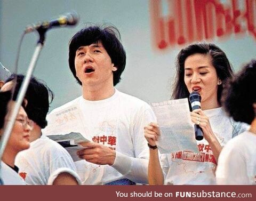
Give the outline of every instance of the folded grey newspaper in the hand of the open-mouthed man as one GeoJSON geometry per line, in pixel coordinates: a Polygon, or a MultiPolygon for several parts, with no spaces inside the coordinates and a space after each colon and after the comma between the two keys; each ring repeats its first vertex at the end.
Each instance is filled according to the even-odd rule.
{"type": "Polygon", "coordinates": [[[76,154],[77,150],[85,149],[81,144],[82,142],[90,142],[90,140],[84,138],[81,133],[71,132],[68,134],[60,135],[48,135],[48,138],[58,142],[62,147],[64,147],[73,158],[74,162],[82,160],[76,154]]]}

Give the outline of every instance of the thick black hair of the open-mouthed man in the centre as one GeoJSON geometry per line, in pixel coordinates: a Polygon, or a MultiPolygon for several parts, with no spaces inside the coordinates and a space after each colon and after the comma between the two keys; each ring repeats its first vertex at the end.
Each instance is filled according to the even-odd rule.
{"type": "Polygon", "coordinates": [[[121,74],[124,71],[126,64],[126,53],[124,47],[119,41],[120,33],[114,26],[99,27],[90,26],[82,30],[79,30],[69,42],[69,68],[76,78],[77,82],[82,85],[82,82],[76,76],[75,69],[75,56],[76,51],[81,46],[88,46],[93,43],[101,42],[105,50],[107,51],[111,62],[117,68],[113,71],[113,83],[114,86],[119,83],[121,74]]]}

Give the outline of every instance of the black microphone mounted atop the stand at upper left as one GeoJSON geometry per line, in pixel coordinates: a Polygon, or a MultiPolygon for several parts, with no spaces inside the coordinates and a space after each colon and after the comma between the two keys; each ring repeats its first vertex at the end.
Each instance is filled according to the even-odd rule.
{"type": "Polygon", "coordinates": [[[31,33],[38,29],[48,30],[53,27],[65,27],[65,26],[74,26],[79,21],[79,17],[76,12],[70,12],[61,15],[58,19],[51,21],[38,22],[33,25],[29,25],[25,29],[25,34],[31,33]]]}

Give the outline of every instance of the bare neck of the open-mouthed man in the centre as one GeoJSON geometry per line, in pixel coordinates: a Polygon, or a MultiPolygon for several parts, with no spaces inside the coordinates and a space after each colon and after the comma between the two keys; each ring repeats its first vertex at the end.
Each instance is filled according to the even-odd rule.
{"type": "Polygon", "coordinates": [[[105,86],[82,86],[83,98],[85,100],[97,101],[111,97],[115,93],[115,88],[112,85],[105,86]]]}

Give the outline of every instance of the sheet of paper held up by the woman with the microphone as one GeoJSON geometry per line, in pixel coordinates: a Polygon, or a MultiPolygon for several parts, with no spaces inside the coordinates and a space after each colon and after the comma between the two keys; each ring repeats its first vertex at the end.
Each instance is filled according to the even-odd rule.
{"type": "Polygon", "coordinates": [[[161,154],[187,150],[199,152],[191,122],[188,99],[151,103],[161,135],[157,147],[161,154]]]}

